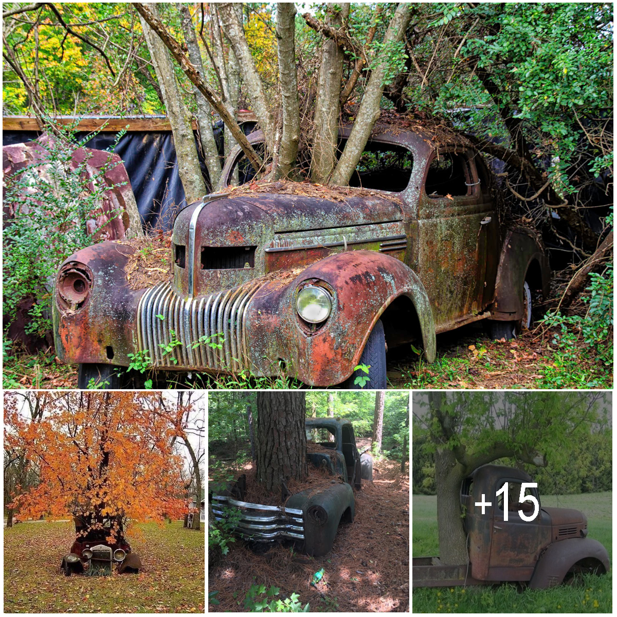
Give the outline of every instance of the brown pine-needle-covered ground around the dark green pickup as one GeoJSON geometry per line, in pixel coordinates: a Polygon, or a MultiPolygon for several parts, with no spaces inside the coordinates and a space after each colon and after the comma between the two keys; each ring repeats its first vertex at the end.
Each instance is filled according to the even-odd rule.
{"type": "Polygon", "coordinates": [[[277,598],[299,594],[310,612],[409,610],[409,476],[400,463],[375,463],[373,482],[355,491],[355,520],[339,528],[333,550],[312,558],[276,545],[263,555],[238,540],[209,565],[208,591],[218,591],[212,611],[244,611],[251,584],[280,587],[277,598]],[[311,584],[321,568],[321,581],[311,584]]]}

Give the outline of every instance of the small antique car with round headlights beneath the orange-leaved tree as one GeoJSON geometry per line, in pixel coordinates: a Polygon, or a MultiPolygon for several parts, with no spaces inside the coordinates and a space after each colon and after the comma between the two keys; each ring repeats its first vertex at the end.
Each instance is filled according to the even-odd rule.
{"type": "Polygon", "coordinates": [[[75,518],[75,542],[70,553],[62,558],[60,569],[65,576],[71,574],[111,574],[117,566],[119,574],[138,573],[141,568],[139,557],[131,551],[126,542],[122,521],[107,518],[101,526],[94,526],[83,518],[75,518]],[[112,524],[116,524],[115,542],[109,542],[108,537],[112,524]]]}

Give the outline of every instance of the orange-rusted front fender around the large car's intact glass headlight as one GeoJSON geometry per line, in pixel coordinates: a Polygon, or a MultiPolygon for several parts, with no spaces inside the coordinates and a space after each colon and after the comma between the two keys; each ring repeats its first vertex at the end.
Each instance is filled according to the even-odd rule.
{"type": "Polygon", "coordinates": [[[280,280],[263,285],[247,309],[247,341],[259,373],[271,375],[267,364],[280,358],[304,383],[341,383],[353,373],[377,320],[401,296],[413,303],[426,360],[433,362],[433,311],[420,279],[404,263],[377,251],[349,251],[292,274],[283,280],[280,273],[280,280]],[[299,286],[315,280],[331,289],[334,303],[325,325],[310,331],[299,320],[295,302],[299,286]]]}

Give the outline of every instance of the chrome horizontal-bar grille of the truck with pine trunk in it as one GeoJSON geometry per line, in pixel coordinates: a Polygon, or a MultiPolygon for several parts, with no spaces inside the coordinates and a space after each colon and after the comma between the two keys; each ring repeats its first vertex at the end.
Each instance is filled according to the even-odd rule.
{"type": "Polygon", "coordinates": [[[212,495],[212,513],[217,521],[225,518],[223,508],[238,508],[241,518],[234,530],[247,540],[271,542],[278,538],[304,540],[302,510],[275,505],[236,501],[231,497],[212,495]]]}

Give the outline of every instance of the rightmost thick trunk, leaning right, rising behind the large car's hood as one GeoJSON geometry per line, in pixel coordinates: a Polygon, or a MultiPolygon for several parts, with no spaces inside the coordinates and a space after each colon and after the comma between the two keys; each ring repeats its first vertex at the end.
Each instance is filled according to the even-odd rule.
{"type": "Polygon", "coordinates": [[[381,94],[384,89],[384,78],[386,77],[387,63],[392,46],[400,43],[411,19],[412,5],[407,2],[400,2],[394,12],[394,16],[388,26],[386,36],[381,44],[381,52],[371,65],[371,77],[360,102],[360,109],[354,120],[354,128],[351,131],[345,149],[341,154],[336,169],[329,184],[346,186],[349,183],[352,173],[360,160],[362,151],[371,135],[373,126],[379,118],[379,104],[381,94]]]}

